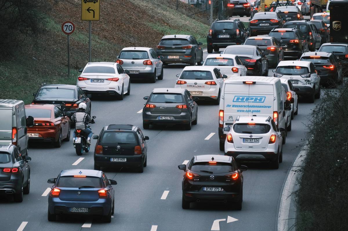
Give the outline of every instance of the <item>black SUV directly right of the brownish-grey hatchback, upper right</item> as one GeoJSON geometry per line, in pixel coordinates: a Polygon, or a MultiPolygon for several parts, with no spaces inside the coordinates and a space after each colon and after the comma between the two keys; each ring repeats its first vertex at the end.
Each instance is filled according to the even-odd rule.
{"type": "Polygon", "coordinates": [[[308,43],[299,29],[274,29],[268,36],[276,38],[284,50],[284,56],[300,58],[303,52],[308,51],[308,43]]]}

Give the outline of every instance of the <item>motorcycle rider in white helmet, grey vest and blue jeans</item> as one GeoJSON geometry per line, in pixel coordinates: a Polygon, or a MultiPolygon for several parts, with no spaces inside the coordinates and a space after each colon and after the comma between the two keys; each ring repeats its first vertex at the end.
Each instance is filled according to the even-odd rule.
{"type": "Polygon", "coordinates": [[[92,130],[87,127],[87,123],[94,123],[94,119],[86,112],[87,105],[85,103],[79,104],[79,110],[77,110],[71,117],[71,121],[75,122],[75,129],[73,132],[73,142],[75,142],[76,129],[80,129],[87,135],[87,144],[90,145],[90,138],[92,138],[92,130]]]}

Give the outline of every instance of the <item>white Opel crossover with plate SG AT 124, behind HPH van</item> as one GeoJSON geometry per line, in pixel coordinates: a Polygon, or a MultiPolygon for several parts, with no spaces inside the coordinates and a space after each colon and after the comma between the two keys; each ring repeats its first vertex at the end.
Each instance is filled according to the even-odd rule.
{"type": "Polygon", "coordinates": [[[247,161],[271,162],[278,169],[283,161],[283,138],[272,117],[240,117],[227,131],[225,155],[233,156],[237,163],[247,161]]]}

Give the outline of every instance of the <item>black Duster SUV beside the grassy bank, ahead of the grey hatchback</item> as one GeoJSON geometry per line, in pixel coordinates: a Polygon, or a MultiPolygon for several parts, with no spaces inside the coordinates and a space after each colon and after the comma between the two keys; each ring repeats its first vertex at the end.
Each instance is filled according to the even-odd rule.
{"type": "Polygon", "coordinates": [[[235,20],[215,20],[207,35],[208,53],[219,51],[229,45],[243,44],[249,37],[249,32],[239,19],[235,20]]]}

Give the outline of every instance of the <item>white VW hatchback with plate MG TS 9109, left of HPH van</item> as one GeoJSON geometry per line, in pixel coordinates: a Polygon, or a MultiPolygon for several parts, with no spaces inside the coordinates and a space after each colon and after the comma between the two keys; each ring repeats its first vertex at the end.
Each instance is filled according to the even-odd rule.
{"type": "Polygon", "coordinates": [[[176,76],[178,79],[174,88],[187,89],[200,100],[212,100],[214,104],[219,104],[223,79],[227,76],[222,75],[216,67],[188,66],[176,76]]]}

